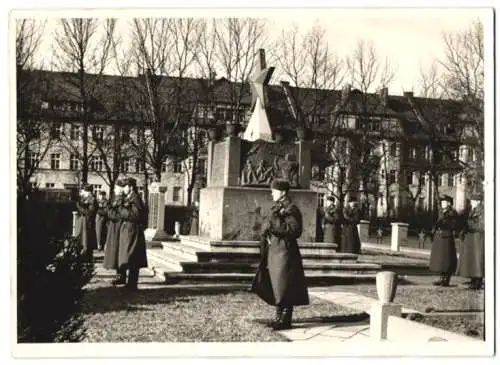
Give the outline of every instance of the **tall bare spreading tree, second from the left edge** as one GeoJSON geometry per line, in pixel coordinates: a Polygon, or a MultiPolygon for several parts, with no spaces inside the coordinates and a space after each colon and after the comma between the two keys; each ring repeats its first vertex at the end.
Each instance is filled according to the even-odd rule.
{"type": "Polygon", "coordinates": [[[88,180],[92,156],[89,153],[89,125],[94,121],[95,111],[102,107],[97,94],[103,72],[111,59],[115,25],[115,19],[61,19],[55,32],[56,66],[69,72],[66,74],[64,92],[68,100],[78,103],[76,123],[72,128],[81,127],[82,141],[80,146],[79,138],[75,143],[63,134],[63,145],[81,161],[83,184],[88,180]]]}

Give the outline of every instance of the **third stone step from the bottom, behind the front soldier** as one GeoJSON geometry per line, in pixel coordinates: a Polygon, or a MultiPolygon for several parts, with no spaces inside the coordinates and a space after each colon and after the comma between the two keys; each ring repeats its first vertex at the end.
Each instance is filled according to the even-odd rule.
{"type": "MultiPolygon", "coordinates": [[[[332,254],[317,254],[310,252],[301,252],[302,262],[307,263],[341,263],[341,262],[356,262],[356,255],[332,253],[332,254]]],[[[261,259],[260,252],[226,252],[226,251],[211,251],[197,252],[198,262],[259,262],[261,259]]]]}

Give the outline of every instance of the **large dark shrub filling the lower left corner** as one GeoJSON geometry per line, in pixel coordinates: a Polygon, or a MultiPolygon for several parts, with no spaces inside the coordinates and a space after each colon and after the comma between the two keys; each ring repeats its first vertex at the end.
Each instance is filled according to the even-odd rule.
{"type": "MultiPolygon", "coordinates": [[[[75,342],[84,335],[83,287],[94,266],[80,254],[74,238],[50,237],[43,222],[26,220],[27,203],[18,213],[18,342],[75,342]]],[[[18,204],[19,209],[19,204],[18,204]]]]}

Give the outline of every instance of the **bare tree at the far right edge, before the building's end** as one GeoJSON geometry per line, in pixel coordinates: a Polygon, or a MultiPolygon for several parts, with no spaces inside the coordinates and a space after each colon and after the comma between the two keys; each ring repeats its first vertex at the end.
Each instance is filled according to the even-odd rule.
{"type": "MultiPolygon", "coordinates": [[[[479,185],[484,179],[484,44],[480,21],[467,29],[443,34],[445,56],[421,78],[422,96],[411,100],[429,137],[428,175],[437,192],[439,177],[449,166],[479,185]],[[437,92],[434,92],[437,90],[437,92]],[[437,97],[436,100],[428,97],[437,97]],[[464,159],[461,145],[472,146],[475,158],[464,159]]],[[[470,188],[470,187],[469,187],[470,188]]],[[[438,194],[434,210],[437,211],[438,194]]]]}

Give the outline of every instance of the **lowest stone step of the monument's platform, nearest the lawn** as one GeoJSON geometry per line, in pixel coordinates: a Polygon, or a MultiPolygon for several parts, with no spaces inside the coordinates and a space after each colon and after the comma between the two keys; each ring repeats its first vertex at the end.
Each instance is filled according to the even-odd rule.
{"type": "MultiPolygon", "coordinates": [[[[376,274],[329,273],[307,274],[309,286],[351,285],[353,283],[373,283],[376,274]]],[[[248,289],[253,281],[254,273],[176,273],[164,272],[167,284],[181,283],[248,283],[248,289]]]]}

